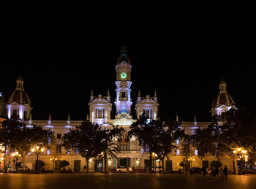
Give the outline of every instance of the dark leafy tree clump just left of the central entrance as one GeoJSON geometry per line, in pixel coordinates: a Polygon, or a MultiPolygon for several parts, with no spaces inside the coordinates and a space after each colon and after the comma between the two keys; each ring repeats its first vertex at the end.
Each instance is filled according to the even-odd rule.
{"type": "Polygon", "coordinates": [[[104,153],[105,168],[107,172],[107,154],[116,157],[118,152],[113,143],[113,137],[118,136],[123,131],[123,128],[113,126],[113,128],[101,127],[97,124],[83,121],[80,126],[69,131],[62,137],[62,145],[67,150],[73,150],[80,153],[83,158],[86,158],[86,172],[89,172],[89,159],[97,158],[104,153]]]}

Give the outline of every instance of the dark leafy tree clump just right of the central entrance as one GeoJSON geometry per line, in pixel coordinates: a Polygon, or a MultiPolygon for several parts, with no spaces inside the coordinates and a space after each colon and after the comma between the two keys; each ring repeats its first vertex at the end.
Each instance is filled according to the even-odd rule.
{"type": "Polygon", "coordinates": [[[139,145],[149,150],[149,172],[152,172],[151,153],[157,153],[162,161],[165,170],[164,160],[172,150],[176,149],[176,140],[182,138],[184,131],[181,131],[179,122],[166,122],[163,120],[148,120],[145,112],[140,115],[137,122],[132,123],[129,137],[137,137],[139,145]]]}

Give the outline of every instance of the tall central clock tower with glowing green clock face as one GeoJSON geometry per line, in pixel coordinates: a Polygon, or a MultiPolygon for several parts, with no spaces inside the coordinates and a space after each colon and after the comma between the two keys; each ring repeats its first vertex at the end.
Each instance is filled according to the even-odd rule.
{"type": "Polygon", "coordinates": [[[116,115],[127,117],[131,113],[131,70],[132,66],[127,55],[127,47],[121,47],[116,64],[116,115]]]}

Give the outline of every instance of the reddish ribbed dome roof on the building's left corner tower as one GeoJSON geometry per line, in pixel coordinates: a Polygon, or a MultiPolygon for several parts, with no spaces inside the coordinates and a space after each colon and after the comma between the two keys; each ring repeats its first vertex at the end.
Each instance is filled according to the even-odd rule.
{"type": "Polygon", "coordinates": [[[10,96],[9,103],[17,102],[18,104],[30,104],[29,96],[26,94],[23,88],[23,79],[19,77],[16,80],[17,87],[10,96]]]}

